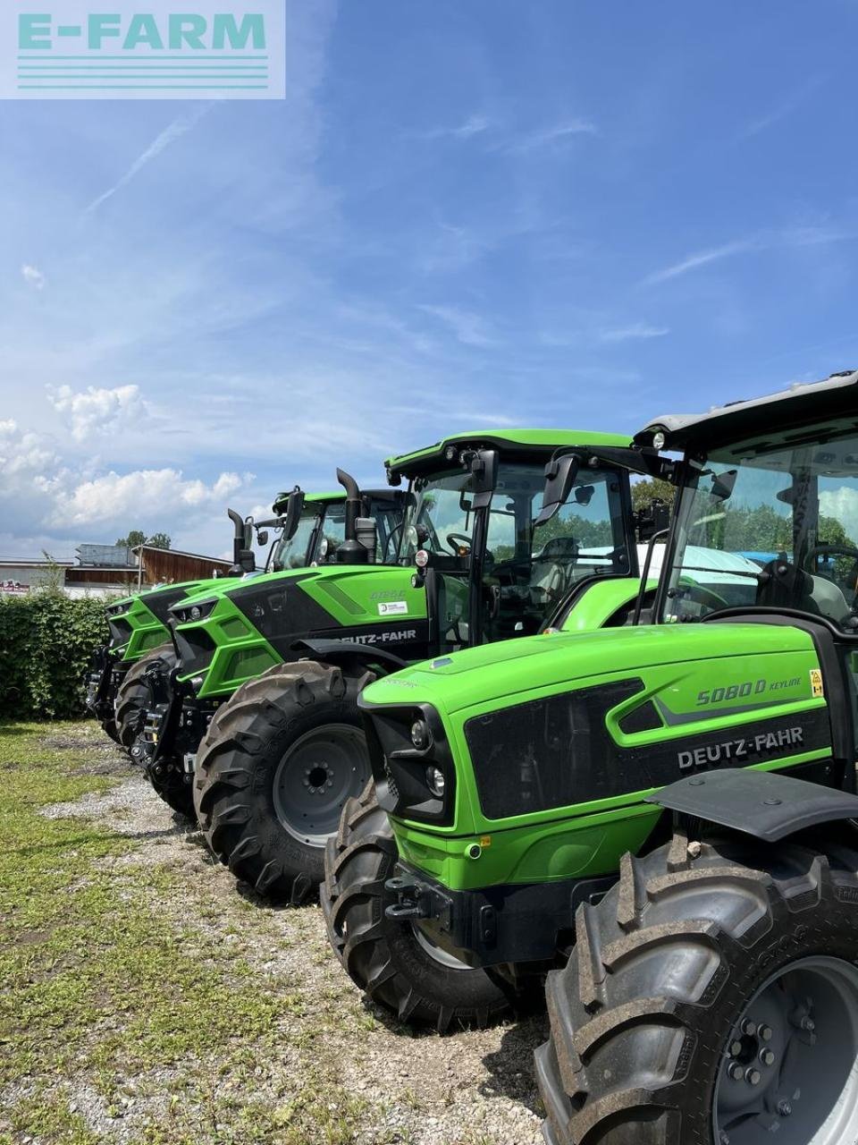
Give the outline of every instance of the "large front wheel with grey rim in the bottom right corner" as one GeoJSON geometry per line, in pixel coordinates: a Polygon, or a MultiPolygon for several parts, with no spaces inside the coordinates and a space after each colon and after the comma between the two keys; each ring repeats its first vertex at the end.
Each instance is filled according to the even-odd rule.
{"type": "Polygon", "coordinates": [[[548,976],[548,1145],[858,1139],[858,850],[827,836],[623,858],[548,976]]]}

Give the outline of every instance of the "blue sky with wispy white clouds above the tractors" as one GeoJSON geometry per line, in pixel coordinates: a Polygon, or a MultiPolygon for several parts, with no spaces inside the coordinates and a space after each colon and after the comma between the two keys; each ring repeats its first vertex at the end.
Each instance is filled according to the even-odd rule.
{"type": "Polygon", "coordinates": [[[0,103],[0,556],[858,364],[856,0],[287,0],[281,103],[0,103]]]}

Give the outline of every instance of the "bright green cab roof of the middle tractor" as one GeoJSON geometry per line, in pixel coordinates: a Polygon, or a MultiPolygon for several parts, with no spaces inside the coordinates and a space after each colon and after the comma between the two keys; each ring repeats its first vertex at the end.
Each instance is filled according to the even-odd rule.
{"type": "Polygon", "coordinates": [[[448,445],[458,448],[491,448],[500,451],[501,457],[515,457],[526,460],[548,460],[557,449],[570,447],[611,445],[621,449],[631,444],[625,434],[597,433],[589,429],[474,429],[469,433],[455,433],[442,437],[434,445],[418,449],[412,453],[400,453],[389,457],[384,463],[388,475],[414,476],[419,473],[435,469],[446,459],[448,445]]]}

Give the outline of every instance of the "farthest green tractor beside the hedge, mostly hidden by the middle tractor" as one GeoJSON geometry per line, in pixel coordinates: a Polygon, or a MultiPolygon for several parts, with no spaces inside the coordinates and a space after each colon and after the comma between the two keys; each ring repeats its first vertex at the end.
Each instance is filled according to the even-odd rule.
{"type": "MultiPolygon", "coordinates": [[[[304,495],[297,487],[280,493],[272,506],[277,516],[270,521],[243,519],[228,510],[235,527],[232,542],[233,564],[229,578],[246,577],[256,571],[251,548],[253,530],[259,544],[267,545],[269,530],[277,532],[265,568],[295,567],[316,559],[316,546],[321,535],[312,532],[319,513],[325,506],[344,499],[344,493],[304,495]],[[302,508],[307,500],[307,508],[302,508]]],[[[164,584],[145,592],[134,593],[114,601],[106,609],[110,640],[96,649],[90,676],[87,680],[86,704],[108,735],[137,758],[136,741],[140,735],[140,680],[150,664],[175,665],[167,622],[168,609],[177,600],[202,592],[219,584],[220,577],[202,581],[183,581],[164,584]],[[130,679],[128,679],[130,678],[130,679]],[[118,695],[128,681],[122,711],[118,712],[118,695]]]]}

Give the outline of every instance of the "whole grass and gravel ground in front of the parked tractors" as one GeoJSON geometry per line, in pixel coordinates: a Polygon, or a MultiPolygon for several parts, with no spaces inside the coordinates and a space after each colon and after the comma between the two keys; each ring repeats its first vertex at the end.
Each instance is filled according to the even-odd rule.
{"type": "Polygon", "coordinates": [[[541,1028],[363,1004],[318,907],[236,893],[96,725],[0,726],[0,1145],[538,1139],[541,1028]]]}

